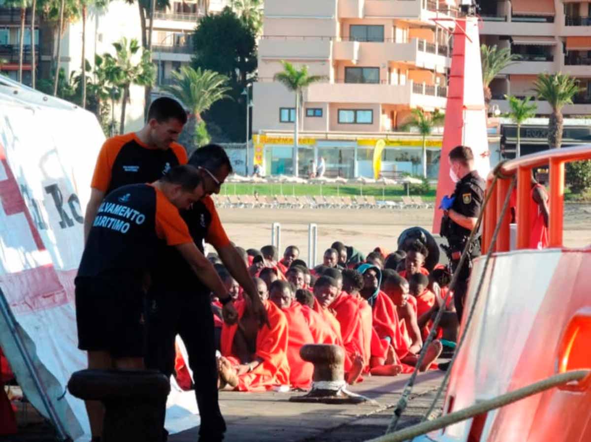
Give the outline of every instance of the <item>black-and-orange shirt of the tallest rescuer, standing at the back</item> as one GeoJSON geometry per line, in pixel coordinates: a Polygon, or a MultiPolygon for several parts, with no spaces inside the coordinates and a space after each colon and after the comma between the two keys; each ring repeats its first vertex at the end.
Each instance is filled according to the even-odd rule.
{"type": "Polygon", "coordinates": [[[187,152],[178,143],[167,150],[150,149],[135,133],[118,135],[100,149],[90,187],[109,194],[128,184],[153,183],[180,164],[187,164],[187,152]]]}

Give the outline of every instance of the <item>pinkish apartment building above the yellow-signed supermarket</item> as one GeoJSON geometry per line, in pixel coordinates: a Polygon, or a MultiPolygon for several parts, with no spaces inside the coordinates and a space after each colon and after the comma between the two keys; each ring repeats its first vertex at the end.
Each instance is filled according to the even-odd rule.
{"type": "MultiPolygon", "coordinates": [[[[433,18],[457,15],[454,1],[266,0],[254,84],[255,164],[291,173],[295,96],[274,81],[281,60],[307,65],[324,80],[303,92],[300,175],[320,156],[327,175],[372,175],[378,139],[384,175],[419,173],[421,139],[397,134],[412,109],[444,109],[450,33],[433,18]]],[[[428,174],[437,176],[441,137],[428,141],[428,174]]]]}

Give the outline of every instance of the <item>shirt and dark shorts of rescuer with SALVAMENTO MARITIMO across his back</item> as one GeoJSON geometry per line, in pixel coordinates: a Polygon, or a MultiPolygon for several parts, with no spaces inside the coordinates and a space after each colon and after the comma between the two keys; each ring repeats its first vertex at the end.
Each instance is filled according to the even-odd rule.
{"type": "Polygon", "coordinates": [[[177,207],[160,190],[134,184],[112,191],[96,213],[74,280],[79,348],[143,356],[144,277],[161,247],[189,242],[177,207]]]}

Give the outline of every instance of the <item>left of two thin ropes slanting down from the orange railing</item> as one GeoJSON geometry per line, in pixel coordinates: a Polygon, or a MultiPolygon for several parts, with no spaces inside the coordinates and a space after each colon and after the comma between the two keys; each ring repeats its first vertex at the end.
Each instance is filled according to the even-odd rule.
{"type": "MultiPolygon", "coordinates": [[[[495,177],[492,180],[490,190],[485,195],[485,200],[484,200],[484,203],[482,204],[482,210],[480,210],[480,214],[478,215],[478,220],[476,220],[476,225],[472,229],[472,232],[470,232],[470,237],[468,238],[468,241],[466,242],[466,245],[464,246],[462,256],[460,257],[460,262],[457,265],[456,271],[454,272],[454,274],[452,276],[452,282],[450,283],[449,290],[447,291],[446,297],[443,300],[443,305],[447,304],[447,300],[449,300],[450,295],[453,293],[453,290],[456,287],[457,279],[458,279],[459,273],[460,273],[459,270],[462,269],[464,262],[467,259],[467,255],[469,253],[470,244],[472,244],[472,242],[474,241],[474,238],[476,237],[476,233],[480,229],[480,223],[482,223],[482,218],[484,217],[486,205],[488,204],[489,200],[491,199],[492,189],[495,188],[496,181],[498,179],[499,179],[499,176],[498,176],[498,174],[495,173],[495,177]]],[[[404,386],[404,390],[402,391],[402,395],[400,396],[400,399],[398,399],[398,404],[396,405],[396,408],[394,409],[394,415],[392,415],[392,420],[390,421],[390,423],[388,425],[388,428],[386,430],[386,434],[396,431],[396,427],[398,425],[398,420],[400,420],[402,413],[404,413],[404,410],[407,408],[408,398],[410,397],[411,393],[413,392],[414,382],[417,379],[418,368],[423,363],[423,359],[425,359],[425,355],[427,353],[428,346],[431,344],[431,342],[433,342],[433,339],[435,338],[435,335],[437,333],[437,327],[439,326],[439,323],[441,321],[441,317],[443,316],[443,310],[444,310],[443,308],[440,308],[439,311],[437,312],[435,319],[433,320],[433,327],[431,327],[429,335],[427,336],[427,340],[425,341],[425,343],[423,345],[423,349],[421,349],[421,353],[418,356],[418,361],[417,361],[417,365],[415,365],[414,372],[411,375],[410,379],[408,379],[407,384],[404,386]]],[[[457,352],[457,350],[456,350],[456,352],[457,352]]]]}

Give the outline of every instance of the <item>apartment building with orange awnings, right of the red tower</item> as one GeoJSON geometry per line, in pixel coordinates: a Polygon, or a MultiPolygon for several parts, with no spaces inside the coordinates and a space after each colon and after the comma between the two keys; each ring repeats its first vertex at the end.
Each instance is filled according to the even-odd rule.
{"type": "MultiPolygon", "coordinates": [[[[493,105],[507,111],[505,95],[533,96],[538,73],[562,72],[579,80],[581,92],[563,109],[566,117],[591,115],[591,1],[479,0],[480,40],[511,48],[519,60],[491,83],[493,105]]],[[[538,101],[538,115],[551,112],[538,101]]]]}

